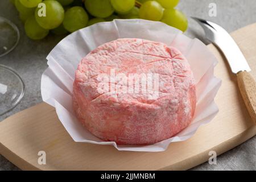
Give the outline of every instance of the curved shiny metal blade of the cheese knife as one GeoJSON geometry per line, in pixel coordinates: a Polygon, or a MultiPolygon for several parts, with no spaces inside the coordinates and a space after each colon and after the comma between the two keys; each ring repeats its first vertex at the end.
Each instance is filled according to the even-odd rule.
{"type": "Polygon", "coordinates": [[[237,46],[237,43],[224,28],[208,20],[195,17],[191,18],[195,19],[196,22],[204,28],[205,37],[215,46],[221,49],[234,74],[241,71],[251,71],[249,64],[243,56],[240,48],[237,46]]]}

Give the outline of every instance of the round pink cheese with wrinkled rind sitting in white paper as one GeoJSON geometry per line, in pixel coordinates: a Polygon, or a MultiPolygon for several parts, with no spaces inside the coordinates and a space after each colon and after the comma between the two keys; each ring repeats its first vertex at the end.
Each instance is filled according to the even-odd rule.
{"type": "Polygon", "coordinates": [[[102,140],[152,144],[173,137],[191,123],[195,90],[188,61],[176,48],[143,39],[117,39],[81,60],[73,84],[73,107],[82,125],[102,140]],[[127,76],[127,81],[113,77],[113,71],[127,76]],[[109,80],[102,79],[102,74],[109,80]],[[158,86],[154,82],[145,88],[141,81],[138,88],[134,77],[129,77],[133,74],[158,76],[152,80],[158,80],[158,86]],[[129,80],[133,81],[129,84],[129,80]],[[109,90],[100,90],[102,84],[109,85],[109,90]],[[152,93],[157,96],[150,97],[152,93]]]}

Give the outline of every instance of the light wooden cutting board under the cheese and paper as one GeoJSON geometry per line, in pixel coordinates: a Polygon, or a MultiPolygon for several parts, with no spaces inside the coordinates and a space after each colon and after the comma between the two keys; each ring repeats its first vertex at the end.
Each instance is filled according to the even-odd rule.
{"type": "MultiPolygon", "coordinates": [[[[256,79],[256,24],[232,36],[256,79]]],[[[213,45],[208,48],[219,61],[215,75],[222,79],[222,86],[215,101],[220,111],[192,138],[171,143],[164,152],[118,151],[113,146],[76,143],[61,125],[55,109],[42,103],[0,122],[0,154],[26,170],[169,170],[189,169],[206,162],[212,150],[217,155],[230,150],[253,137],[256,126],[225,58],[213,45]],[[39,151],[46,152],[46,165],[38,164],[39,151]]]]}

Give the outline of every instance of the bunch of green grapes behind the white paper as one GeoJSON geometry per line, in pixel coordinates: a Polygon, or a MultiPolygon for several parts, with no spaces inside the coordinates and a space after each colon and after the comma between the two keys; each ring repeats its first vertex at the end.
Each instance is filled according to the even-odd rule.
{"type": "Polygon", "coordinates": [[[142,18],[162,21],[181,31],[188,21],[175,9],[179,0],[10,0],[19,12],[29,38],[49,32],[65,35],[98,22],[142,18]]]}

